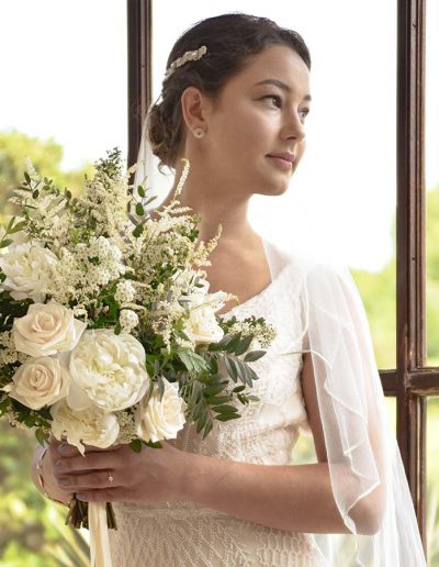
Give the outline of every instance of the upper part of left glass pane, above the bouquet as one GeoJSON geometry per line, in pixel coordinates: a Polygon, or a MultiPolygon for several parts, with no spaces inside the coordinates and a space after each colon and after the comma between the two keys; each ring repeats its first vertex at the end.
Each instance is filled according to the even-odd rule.
{"type": "Polygon", "coordinates": [[[90,164],[127,153],[125,2],[0,2],[0,211],[24,156],[74,193],[90,164]]]}

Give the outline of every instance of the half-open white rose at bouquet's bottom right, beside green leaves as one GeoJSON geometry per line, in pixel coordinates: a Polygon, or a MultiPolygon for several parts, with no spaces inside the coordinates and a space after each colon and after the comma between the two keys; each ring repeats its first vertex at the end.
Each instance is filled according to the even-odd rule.
{"type": "Polygon", "coordinates": [[[178,394],[178,383],[165,382],[165,392],[160,401],[160,393],[157,385],[154,385],[153,394],[147,403],[146,397],[136,409],[136,434],[144,441],[156,443],[160,440],[177,437],[185,422],[185,401],[178,394]]]}

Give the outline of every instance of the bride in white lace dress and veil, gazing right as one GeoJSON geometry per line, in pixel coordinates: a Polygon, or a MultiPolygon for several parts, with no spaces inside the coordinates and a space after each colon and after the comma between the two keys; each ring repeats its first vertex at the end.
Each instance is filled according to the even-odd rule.
{"type": "Polygon", "coordinates": [[[299,33],[241,13],[196,23],[169,55],[142,146],[175,169],[162,204],[189,158],[179,200],[201,214],[200,240],[223,226],[210,291],[240,299],[217,314],[264,316],[278,336],[255,363],[260,401],[204,441],[187,424],[140,453],[88,447],[82,457],[50,442],[40,470],[52,498],[114,503],[116,567],[425,565],[348,270],[289,255],[247,219],[252,194],[288,190],[305,152],[309,69],[299,33]],[[318,463],[291,463],[301,433],[318,463]]]}

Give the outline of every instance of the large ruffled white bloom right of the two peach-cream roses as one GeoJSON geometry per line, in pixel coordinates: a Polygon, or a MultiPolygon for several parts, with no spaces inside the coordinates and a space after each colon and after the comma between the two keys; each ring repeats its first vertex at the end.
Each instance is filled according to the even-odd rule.
{"type": "Polygon", "coordinates": [[[137,403],[149,386],[145,349],[127,333],[111,329],[86,331],[70,354],[72,379],[68,403],[85,410],[95,403],[112,412],[137,403]]]}

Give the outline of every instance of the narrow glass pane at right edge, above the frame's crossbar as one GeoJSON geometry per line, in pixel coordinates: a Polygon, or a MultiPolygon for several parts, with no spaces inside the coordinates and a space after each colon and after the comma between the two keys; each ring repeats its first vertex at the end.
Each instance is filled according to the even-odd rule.
{"type": "Polygon", "coordinates": [[[439,366],[439,4],[426,21],[426,315],[427,366],[439,366]]]}

